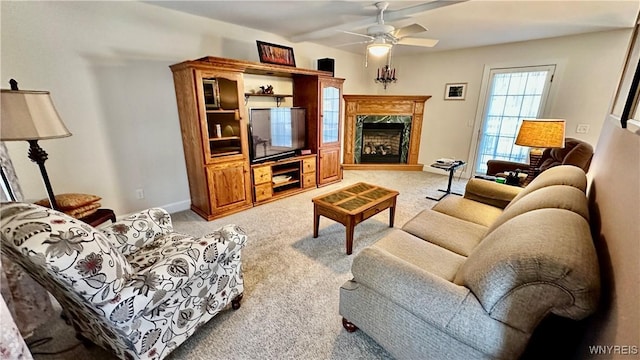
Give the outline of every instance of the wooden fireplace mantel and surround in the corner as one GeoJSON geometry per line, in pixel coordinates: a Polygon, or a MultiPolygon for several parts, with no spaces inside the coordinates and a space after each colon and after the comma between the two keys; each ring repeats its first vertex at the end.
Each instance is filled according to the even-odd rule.
{"type": "Polygon", "coordinates": [[[344,159],[345,170],[417,170],[422,171],[423,164],[418,163],[420,136],[425,102],[428,95],[343,95],[345,102],[344,123],[344,159]],[[356,164],[355,132],[358,115],[409,115],[411,116],[411,137],[406,164],[356,164]]]}

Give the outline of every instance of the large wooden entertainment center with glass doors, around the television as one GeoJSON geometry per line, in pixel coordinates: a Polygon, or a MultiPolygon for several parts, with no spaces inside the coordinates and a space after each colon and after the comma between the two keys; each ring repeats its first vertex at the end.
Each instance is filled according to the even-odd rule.
{"type": "Polygon", "coordinates": [[[191,209],[213,220],[342,180],[342,84],[330,72],[204,57],[170,66],[180,118],[191,209]],[[278,77],[291,94],[245,91],[245,75],[278,77]],[[306,109],[310,154],[251,163],[248,102],[284,98],[306,109]]]}

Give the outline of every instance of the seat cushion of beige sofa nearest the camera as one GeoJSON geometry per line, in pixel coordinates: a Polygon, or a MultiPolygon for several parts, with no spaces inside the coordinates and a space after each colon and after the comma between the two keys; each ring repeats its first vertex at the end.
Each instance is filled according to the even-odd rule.
{"type": "Polygon", "coordinates": [[[372,246],[448,281],[453,281],[458,268],[466,260],[464,256],[399,229],[393,229],[372,246]]]}

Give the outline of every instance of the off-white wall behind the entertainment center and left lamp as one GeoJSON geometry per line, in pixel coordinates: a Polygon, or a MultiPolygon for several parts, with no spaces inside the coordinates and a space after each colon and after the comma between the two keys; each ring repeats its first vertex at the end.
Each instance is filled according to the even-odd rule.
{"type": "MultiPolygon", "coordinates": [[[[294,48],[296,63],[336,59],[362,92],[360,56],[140,2],[0,2],[1,82],[49,90],[73,136],[41,141],[55,193],[103,197],[117,214],[189,207],[169,65],[203,56],[258,61],[256,40],[294,48]],[[145,198],[136,199],[136,189],[145,198]]],[[[46,197],[26,142],[7,143],[26,200],[46,197]]]]}

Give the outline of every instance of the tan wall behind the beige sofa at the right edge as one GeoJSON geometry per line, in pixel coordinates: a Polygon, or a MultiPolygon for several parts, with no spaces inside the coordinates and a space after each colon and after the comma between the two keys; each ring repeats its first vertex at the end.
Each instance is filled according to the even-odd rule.
{"type": "Polygon", "coordinates": [[[603,125],[588,189],[602,295],[575,359],[604,358],[589,353],[593,345],[627,346],[607,359],[638,358],[640,346],[640,130],[615,116],[603,125]]]}

